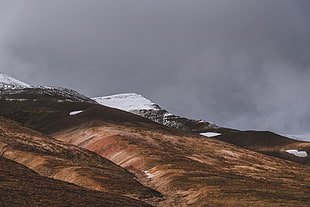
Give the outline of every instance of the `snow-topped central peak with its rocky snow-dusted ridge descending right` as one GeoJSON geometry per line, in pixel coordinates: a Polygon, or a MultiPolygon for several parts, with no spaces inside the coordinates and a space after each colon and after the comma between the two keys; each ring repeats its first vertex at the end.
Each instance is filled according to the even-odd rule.
{"type": "Polygon", "coordinates": [[[231,132],[235,131],[219,127],[214,123],[203,120],[192,120],[169,113],[157,104],[140,94],[124,93],[112,96],[96,97],[93,100],[104,106],[117,108],[123,111],[145,117],[167,127],[197,133],[203,132],[231,132]]]}

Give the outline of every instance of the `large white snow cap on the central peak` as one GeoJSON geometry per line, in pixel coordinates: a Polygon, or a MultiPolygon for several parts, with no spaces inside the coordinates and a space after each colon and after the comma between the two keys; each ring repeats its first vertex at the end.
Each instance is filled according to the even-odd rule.
{"type": "Polygon", "coordinates": [[[124,93],[112,96],[96,97],[93,100],[99,104],[117,108],[123,111],[133,110],[158,110],[160,109],[155,103],[136,93],[124,93]]]}

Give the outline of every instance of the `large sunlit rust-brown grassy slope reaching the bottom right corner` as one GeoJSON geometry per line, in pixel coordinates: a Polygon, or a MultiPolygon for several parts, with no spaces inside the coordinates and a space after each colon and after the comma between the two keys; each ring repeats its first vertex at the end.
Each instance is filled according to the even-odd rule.
{"type": "Polygon", "coordinates": [[[310,167],[200,136],[111,123],[54,133],[135,173],[157,206],[309,206],[310,167]]]}

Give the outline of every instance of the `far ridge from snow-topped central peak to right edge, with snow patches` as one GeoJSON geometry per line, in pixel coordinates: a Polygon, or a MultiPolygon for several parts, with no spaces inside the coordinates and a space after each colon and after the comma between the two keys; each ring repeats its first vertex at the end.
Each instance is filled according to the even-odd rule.
{"type": "Polygon", "coordinates": [[[308,156],[308,154],[310,155],[309,142],[299,142],[271,132],[227,129],[202,120],[197,121],[179,117],[170,114],[153,101],[135,93],[97,97],[93,98],[93,100],[99,104],[137,114],[171,128],[198,132],[200,135],[215,137],[256,152],[310,165],[310,156],[308,156]],[[292,150],[296,153],[303,153],[304,157],[289,153],[292,150]]]}

